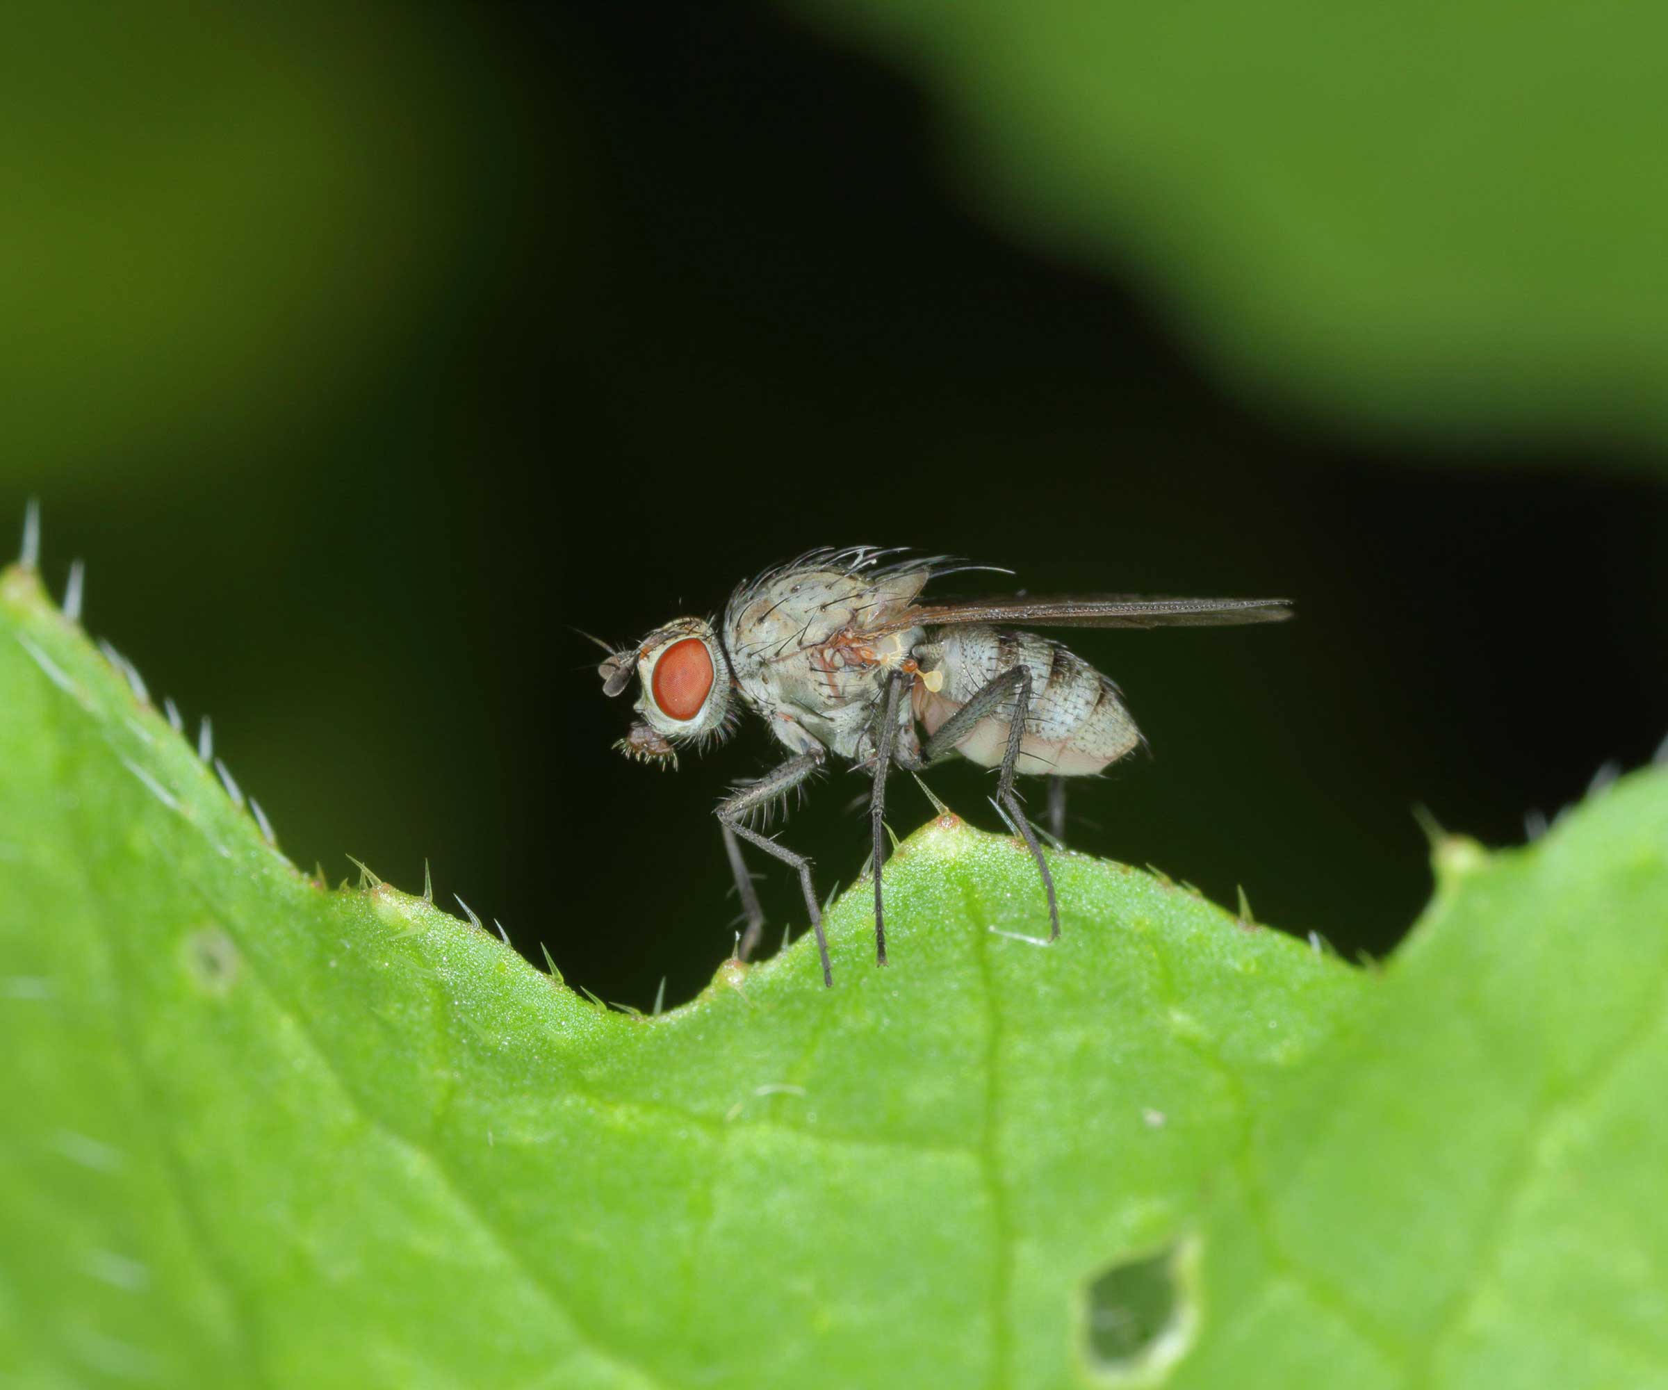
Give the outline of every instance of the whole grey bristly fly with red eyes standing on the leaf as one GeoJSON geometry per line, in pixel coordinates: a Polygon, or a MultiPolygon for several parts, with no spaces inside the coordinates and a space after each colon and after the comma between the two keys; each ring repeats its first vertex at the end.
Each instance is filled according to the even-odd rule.
{"type": "MultiPolygon", "coordinates": [[[[1046,776],[1054,834],[1064,819],[1064,778],[1099,773],[1131,753],[1141,734],[1106,676],[1053,637],[1026,627],[1209,627],[1281,622],[1286,599],[1154,599],[1129,594],[1002,597],[931,602],[927,581],[964,569],[942,556],[894,559],[869,546],[809,551],[744,582],[721,621],[674,617],[597,667],[617,696],[641,682],[627,756],[676,766],[681,748],[727,738],[749,709],[787,749],[786,763],[719,803],[724,851],[747,929],[742,959],[759,941],[764,913],[737,836],[799,871],[806,911],[832,985],[811,861],[749,821],[817,773],[829,754],[872,776],[874,949],[886,964],[881,863],[886,858],[886,774],[931,768],[951,756],[999,768],[996,803],[1024,838],[1048,896],[1049,939],[1059,904],[1014,778],[1046,776]],[[917,728],[919,726],[919,728],[917,728]]],[[[607,649],[607,644],[602,642],[607,649]]]]}

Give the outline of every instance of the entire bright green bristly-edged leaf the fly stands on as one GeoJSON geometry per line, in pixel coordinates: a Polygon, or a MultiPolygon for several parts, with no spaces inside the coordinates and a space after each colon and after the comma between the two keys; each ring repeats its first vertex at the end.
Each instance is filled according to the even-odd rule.
{"type": "Polygon", "coordinates": [[[300,874],[23,571],[0,709],[20,1383],[1653,1365],[1661,776],[1531,851],[1449,844],[1383,978],[1069,853],[1066,934],[1032,944],[1024,851],[947,816],[887,864],[887,969],[859,884],[832,991],[799,943],[639,1018],[422,898],[300,874]]]}

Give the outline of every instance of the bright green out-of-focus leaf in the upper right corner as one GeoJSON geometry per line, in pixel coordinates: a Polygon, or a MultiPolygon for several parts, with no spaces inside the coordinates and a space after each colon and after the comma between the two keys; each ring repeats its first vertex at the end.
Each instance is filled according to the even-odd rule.
{"type": "Polygon", "coordinates": [[[969,199],[1234,387],[1461,449],[1668,439],[1668,12],[792,0],[936,98],[969,199]]]}

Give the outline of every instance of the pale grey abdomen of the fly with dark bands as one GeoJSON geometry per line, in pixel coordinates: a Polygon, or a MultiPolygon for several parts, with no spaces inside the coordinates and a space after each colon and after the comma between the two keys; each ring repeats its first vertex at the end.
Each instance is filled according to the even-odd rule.
{"type": "MultiPolygon", "coordinates": [[[[942,676],[936,691],[914,687],[916,718],[934,734],[962,704],[1014,666],[1031,671],[1031,703],[1016,771],[1081,778],[1099,773],[1141,741],[1118,687],[1076,652],[1036,632],[1006,627],[946,627],[917,649],[924,671],[942,676]]],[[[996,768],[1007,749],[1014,696],[981,719],[956,746],[962,758],[996,768]]]]}

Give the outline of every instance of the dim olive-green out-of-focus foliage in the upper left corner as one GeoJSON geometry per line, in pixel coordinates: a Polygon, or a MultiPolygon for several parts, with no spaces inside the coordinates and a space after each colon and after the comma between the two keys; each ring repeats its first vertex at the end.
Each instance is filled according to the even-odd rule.
{"type": "Polygon", "coordinates": [[[295,447],[454,290],[470,28],[432,7],[0,15],[0,469],[157,482],[295,447]]]}

